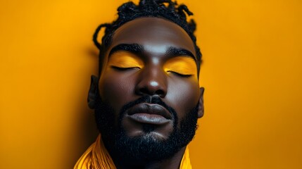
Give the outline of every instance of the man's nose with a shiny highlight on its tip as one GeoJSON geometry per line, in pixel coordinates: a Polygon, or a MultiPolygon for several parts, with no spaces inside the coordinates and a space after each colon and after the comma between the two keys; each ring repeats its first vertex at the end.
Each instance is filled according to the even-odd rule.
{"type": "Polygon", "coordinates": [[[167,78],[161,68],[153,66],[145,67],[139,73],[135,93],[141,96],[160,96],[164,98],[167,94],[167,78]]]}

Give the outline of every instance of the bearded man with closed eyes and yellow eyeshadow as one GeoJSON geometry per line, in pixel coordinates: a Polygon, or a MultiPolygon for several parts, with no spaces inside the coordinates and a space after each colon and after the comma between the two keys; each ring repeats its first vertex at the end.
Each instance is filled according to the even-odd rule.
{"type": "Polygon", "coordinates": [[[203,116],[203,87],[186,13],[168,0],[128,2],[97,28],[99,77],[92,76],[88,104],[101,134],[75,168],[191,168],[187,144],[203,116]]]}

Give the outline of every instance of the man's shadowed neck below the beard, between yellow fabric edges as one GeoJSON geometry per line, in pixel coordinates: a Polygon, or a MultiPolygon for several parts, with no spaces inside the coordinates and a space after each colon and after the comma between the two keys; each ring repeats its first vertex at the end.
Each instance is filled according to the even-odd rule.
{"type": "Polygon", "coordinates": [[[141,169],[151,169],[151,168],[169,168],[169,169],[179,169],[180,162],[182,161],[182,156],[184,156],[184,151],[186,147],[184,146],[180,151],[178,151],[174,156],[168,159],[163,159],[162,161],[123,161],[122,158],[113,158],[115,167],[118,169],[130,169],[130,168],[141,168],[141,169]]]}

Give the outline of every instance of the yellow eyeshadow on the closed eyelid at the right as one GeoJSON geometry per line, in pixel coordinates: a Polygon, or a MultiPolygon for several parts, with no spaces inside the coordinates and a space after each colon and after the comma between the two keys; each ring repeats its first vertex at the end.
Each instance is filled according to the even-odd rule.
{"type": "Polygon", "coordinates": [[[177,56],[168,60],[163,69],[166,73],[175,73],[181,76],[197,78],[197,66],[193,58],[177,56]]]}

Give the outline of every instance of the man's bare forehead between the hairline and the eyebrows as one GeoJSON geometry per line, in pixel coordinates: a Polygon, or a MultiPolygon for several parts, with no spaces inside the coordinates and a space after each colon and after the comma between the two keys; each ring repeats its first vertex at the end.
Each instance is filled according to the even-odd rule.
{"type": "Polygon", "coordinates": [[[182,27],[162,18],[137,18],[115,30],[109,51],[118,44],[140,44],[146,51],[165,53],[169,47],[196,55],[194,43],[182,27]]]}

